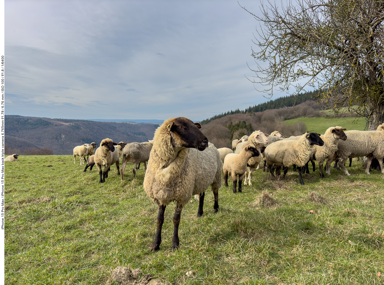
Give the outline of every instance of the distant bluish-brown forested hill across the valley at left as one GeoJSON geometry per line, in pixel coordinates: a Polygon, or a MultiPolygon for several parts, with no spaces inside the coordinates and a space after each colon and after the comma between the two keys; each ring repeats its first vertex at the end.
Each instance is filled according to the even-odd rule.
{"type": "Polygon", "coordinates": [[[72,154],[76,145],[111,138],[114,142],[146,142],[158,125],[94,122],[16,115],[5,116],[6,154],[72,154]]]}

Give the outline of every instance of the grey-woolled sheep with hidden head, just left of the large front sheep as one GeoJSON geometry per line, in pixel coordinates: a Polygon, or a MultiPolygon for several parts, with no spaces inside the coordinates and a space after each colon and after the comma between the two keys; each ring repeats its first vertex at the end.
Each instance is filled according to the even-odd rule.
{"type": "Polygon", "coordinates": [[[136,178],[136,166],[141,162],[144,162],[145,172],[147,171],[146,161],[149,159],[149,154],[153,146],[153,140],[143,143],[128,143],[123,149],[122,158],[121,158],[121,181],[124,180],[124,170],[127,165],[127,162],[134,163],[132,169],[133,178],[136,178]]]}

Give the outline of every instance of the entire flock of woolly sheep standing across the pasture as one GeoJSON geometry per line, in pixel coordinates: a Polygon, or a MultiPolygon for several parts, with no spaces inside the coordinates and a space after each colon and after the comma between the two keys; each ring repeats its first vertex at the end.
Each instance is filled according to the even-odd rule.
{"type": "MultiPolygon", "coordinates": [[[[236,193],[237,190],[237,176],[239,177],[239,192],[242,191],[244,177],[245,184],[252,185],[251,175],[255,168],[265,170],[268,167],[272,176],[275,170],[277,175],[283,168],[284,178],[288,167],[297,166],[300,183],[304,185],[301,177],[302,169],[308,171],[308,162],[311,162],[314,171],[314,160],[318,161],[321,178],[324,178],[324,162],[326,162],[328,175],[330,175],[330,164],[335,159],[338,159],[338,165],[344,173],[349,175],[344,165],[346,160],[362,156],[367,157],[366,174],[369,174],[373,158],[377,158],[381,172],[384,173],[382,166],[384,124],[377,127],[376,131],[346,131],[342,127],[330,127],[324,135],[311,132],[289,138],[282,137],[281,133],[277,131],[268,135],[259,130],[249,136],[234,140],[232,150],[230,148],[217,149],[208,142],[200,128],[200,123],[193,123],[187,118],[170,118],[157,128],[153,140],[149,142],[126,145],[124,142],[115,143],[106,138],[101,141],[96,152],[97,144],[94,142],[73,149],[74,163],[76,163],[76,156],[80,157],[80,164],[84,164],[85,157],[88,156],[84,172],[88,167],[91,167],[91,170],[96,164],[101,183],[108,178],[112,164],[116,164],[118,175],[121,175],[121,180],[123,180],[127,162],[134,163],[135,178],[137,165],[144,163],[146,168],[144,190],[158,206],[153,251],[159,250],[164,211],[170,202],[176,202],[172,250],[179,247],[178,229],[182,208],[193,195],[199,200],[197,217],[200,217],[203,214],[205,191],[211,186],[214,194],[214,210],[218,211],[218,190],[222,187],[222,172],[227,187],[228,175],[232,175],[233,193],[236,193]],[[117,152],[115,146],[117,146],[117,152]],[[234,153],[233,150],[235,150],[234,153]],[[121,173],[119,157],[122,157],[121,173]],[[262,160],[264,167],[261,164],[262,160]],[[104,171],[102,171],[102,166],[104,166],[104,171]]],[[[6,160],[12,159],[13,156],[9,157],[6,160]]]]}

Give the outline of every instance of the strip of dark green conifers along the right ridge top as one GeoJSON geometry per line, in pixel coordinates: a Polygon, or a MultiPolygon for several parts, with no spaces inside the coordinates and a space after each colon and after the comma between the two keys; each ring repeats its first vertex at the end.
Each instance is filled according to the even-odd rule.
{"type": "Polygon", "coordinates": [[[294,96],[288,95],[285,97],[280,97],[274,100],[268,100],[267,102],[260,103],[258,105],[255,105],[253,107],[249,107],[245,110],[237,110],[235,111],[228,111],[226,113],[221,113],[218,115],[214,115],[211,118],[207,118],[205,120],[202,120],[200,124],[204,125],[207,124],[215,119],[225,117],[227,115],[233,115],[233,114],[239,114],[239,113],[256,113],[256,112],[263,112],[265,110],[271,110],[271,109],[279,109],[283,107],[292,107],[293,105],[299,105],[300,103],[303,103],[307,100],[313,100],[313,94],[315,92],[307,92],[307,93],[300,93],[296,98],[294,96]],[[296,100],[295,100],[296,99],[296,100]]]}

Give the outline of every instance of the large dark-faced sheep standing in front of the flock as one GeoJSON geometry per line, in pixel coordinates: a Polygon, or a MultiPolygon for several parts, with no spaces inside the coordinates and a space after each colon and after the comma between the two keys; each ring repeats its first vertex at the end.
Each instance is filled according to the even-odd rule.
{"type": "Polygon", "coordinates": [[[211,186],[214,210],[218,211],[222,162],[217,148],[208,142],[200,128],[200,123],[179,117],[164,121],[155,132],[144,177],[144,190],[159,207],[152,251],[160,249],[164,211],[171,201],[176,202],[172,250],[179,247],[180,215],[192,195],[199,195],[197,217],[200,217],[205,191],[211,186]]]}

